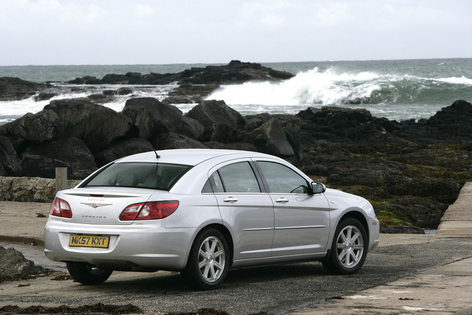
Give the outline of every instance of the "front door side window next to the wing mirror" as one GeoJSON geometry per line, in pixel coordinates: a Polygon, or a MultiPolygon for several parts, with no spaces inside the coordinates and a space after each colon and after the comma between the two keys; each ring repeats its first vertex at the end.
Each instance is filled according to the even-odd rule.
{"type": "Polygon", "coordinates": [[[306,194],[308,193],[308,184],[298,173],[285,165],[258,161],[257,165],[266,178],[270,192],[279,192],[287,194],[306,194]]]}

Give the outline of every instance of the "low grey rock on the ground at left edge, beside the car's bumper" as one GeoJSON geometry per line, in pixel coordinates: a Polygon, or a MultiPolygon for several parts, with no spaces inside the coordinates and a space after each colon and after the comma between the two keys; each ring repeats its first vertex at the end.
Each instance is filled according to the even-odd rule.
{"type": "Polygon", "coordinates": [[[35,266],[33,261],[25,259],[22,253],[13,248],[0,246],[0,277],[11,277],[22,273],[37,273],[43,271],[41,266],[35,266]]]}

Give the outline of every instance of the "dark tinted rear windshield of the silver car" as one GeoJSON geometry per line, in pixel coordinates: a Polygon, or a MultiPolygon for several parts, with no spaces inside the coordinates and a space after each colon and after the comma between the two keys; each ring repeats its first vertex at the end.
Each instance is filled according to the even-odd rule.
{"type": "Polygon", "coordinates": [[[81,187],[170,188],[192,166],[169,163],[113,163],[81,187]]]}

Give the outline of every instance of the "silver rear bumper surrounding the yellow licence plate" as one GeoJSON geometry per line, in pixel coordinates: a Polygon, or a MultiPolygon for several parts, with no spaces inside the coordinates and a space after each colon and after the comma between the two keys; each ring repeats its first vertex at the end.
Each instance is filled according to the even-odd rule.
{"type": "Polygon", "coordinates": [[[181,270],[194,233],[195,228],[165,228],[162,221],[106,226],[49,220],[44,228],[44,253],[52,261],[181,270]],[[108,247],[71,247],[70,235],[108,236],[108,247]]]}

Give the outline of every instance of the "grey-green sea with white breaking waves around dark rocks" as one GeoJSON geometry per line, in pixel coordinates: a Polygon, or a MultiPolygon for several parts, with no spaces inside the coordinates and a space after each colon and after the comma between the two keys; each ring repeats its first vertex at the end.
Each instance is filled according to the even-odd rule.
{"type": "MultiPolygon", "coordinates": [[[[294,74],[280,82],[245,82],[221,85],[206,99],[225,101],[242,115],[298,113],[308,107],[340,106],[367,109],[373,116],[404,121],[433,116],[458,99],[472,101],[472,58],[395,61],[310,61],[261,63],[294,74]]],[[[103,78],[109,73],[178,73],[206,64],[103,65],[103,66],[0,66],[0,77],[33,82],[51,82],[54,99],[88,97],[106,89],[129,87],[132,94],[116,96],[104,104],[121,111],[130,97],[163,100],[172,85],[68,85],[64,82],[85,75],[103,78]]],[[[212,66],[220,66],[213,64],[212,66]]],[[[37,113],[48,101],[33,97],[0,101],[0,124],[25,113],[37,113]]],[[[184,113],[196,104],[175,104],[184,113]]]]}

